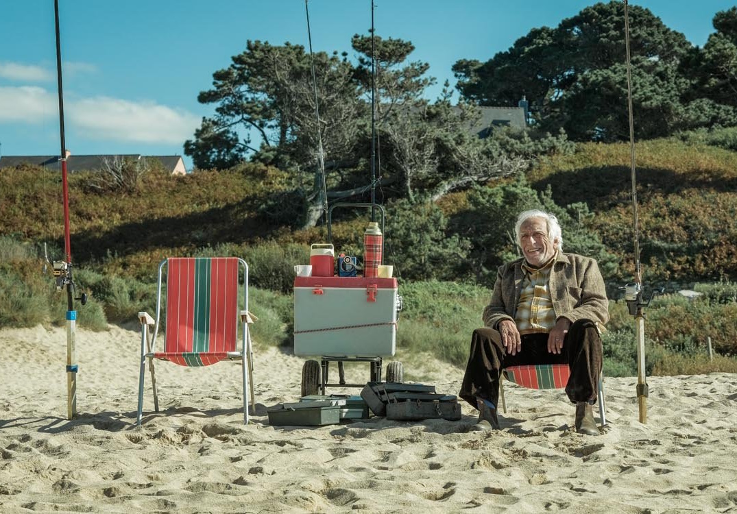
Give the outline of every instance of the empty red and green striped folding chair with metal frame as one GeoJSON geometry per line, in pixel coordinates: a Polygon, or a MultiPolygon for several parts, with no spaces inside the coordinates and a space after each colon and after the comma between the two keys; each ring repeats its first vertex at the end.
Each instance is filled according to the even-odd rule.
{"type": "Polygon", "coordinates": [[[178,258],[161,261],[158,266],[156,320],[139,312],[141,322],[141,369],[137,423],[143,412],[144,370],[151,371],[154,409],[158,412],[158,394],[154,359],[181,366],[209,366],[223,360],[238,360],[242,365],[243,419],[248,423],[248,387],[255,409],[253,352],[249,325],[256,318],[248,312],[248,264],[242,258],[178,258]],[[242,294],[239,273],[243,270],[242,294]],[[166,275],[164,275],[166,268],[166,275]],[[166,297],[161,288],[166,283],[166,297]],[[239,301],[240,297],[240,301],[239,301]],[[239,303],[242,305],[239,306],[239,303]],[[238,325],[240,339],[238,337],[238,325]],[[159,328],[164,326],[163,346],[158,349],[159,328]],[[153,326],[153,338],[150,327],[153,326]],[[240,341],[240,344],[239,344],[240,341]]]}

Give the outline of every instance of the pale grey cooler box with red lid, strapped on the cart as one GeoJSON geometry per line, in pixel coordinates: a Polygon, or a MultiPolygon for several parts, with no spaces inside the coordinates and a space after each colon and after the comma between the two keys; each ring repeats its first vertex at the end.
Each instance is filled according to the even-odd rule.
{"type": "Polygon", "coordinates": [[[385,357],[396,348],[396,278],[294,279],[296,356],[385,357]]]}

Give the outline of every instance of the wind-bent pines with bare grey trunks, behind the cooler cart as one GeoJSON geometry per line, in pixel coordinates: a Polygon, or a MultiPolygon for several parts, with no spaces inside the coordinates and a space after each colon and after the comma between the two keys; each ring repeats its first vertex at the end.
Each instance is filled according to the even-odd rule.
{"type": "MultiPolygon", "coordinates": [[[[525,168],[528,155],[510,157],[499,140],[472,132],[476,108],[451,105],[447,88],[434,102],[425,99],[435,79],[427,77],[427,63],[409,60],[412,43],[363,35],[351,43],[354,63],[345,53],[310,55],[290,43],[248,41],[228,68],[213,74],[213,88],[198,96],[215,105],[215,113],[186,141],[185,153],[200,169],[251,158],[290,172],[302,191],[304,225],[315,223],[326,197],[360,197],[372,185],[412,201],[418,193],[437,198],[525,168]],[[375,177],[369,174],[374,120],[375,177]],[[257,147],[251,133],[259,135],[257,147]]],[[[503,136],[510,138],[530,136],[503,136]]]]}

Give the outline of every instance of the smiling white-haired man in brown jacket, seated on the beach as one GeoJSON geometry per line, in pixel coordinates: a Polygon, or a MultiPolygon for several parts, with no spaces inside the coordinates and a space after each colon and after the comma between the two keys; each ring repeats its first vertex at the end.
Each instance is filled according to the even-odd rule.
{"type": "Polygon", "coordinates": [[[562,252],[553,214],[517,218],[523,258],[497,271],[483,324],[473,332],[460,396],[479,410],[475,430],[499,428],[500,373],[513,365],[567,363],[565,392],[576,404],[576,432],[598,435],[592,405],[601,373],[598,325],[609,320],[604,280],[593,258],[562,252]]]}

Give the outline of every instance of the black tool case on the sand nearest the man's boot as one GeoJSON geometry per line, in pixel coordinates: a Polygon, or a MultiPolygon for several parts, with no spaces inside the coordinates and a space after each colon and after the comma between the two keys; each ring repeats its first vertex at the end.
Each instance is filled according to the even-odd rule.
{"type": "Polygon", "coordinates": [[[439,419],[458,421],[461,405],[455,395],[417,392],[392,392],[388,395],[386,419],[416,421],[439,419]]]}

